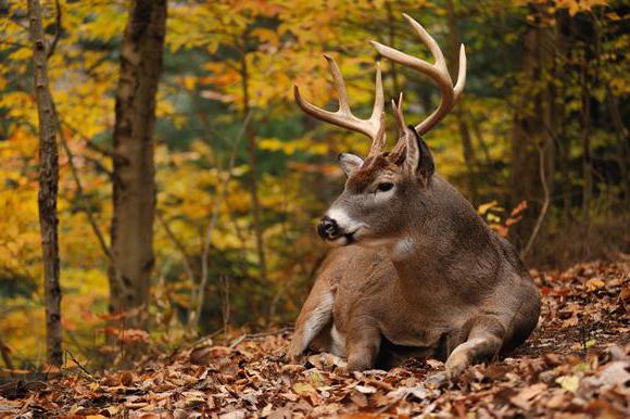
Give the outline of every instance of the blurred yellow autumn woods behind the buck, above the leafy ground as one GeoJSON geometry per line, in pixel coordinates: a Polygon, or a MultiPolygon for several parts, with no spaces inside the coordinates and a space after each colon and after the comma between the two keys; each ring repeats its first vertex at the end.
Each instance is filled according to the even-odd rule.
{"type": "MultiPolygon", "coordinates": [[[[366,115],[379,59],[368,40],[430,60],[403,12],[452,72],[466,45],[464,99],[426,138],[438,170],[530,266],[630,250],[622,1],[169,1],[155,128],[138,142],[152,157],[139,180],[151,190],[154,174],[155,206],[134,217],[153,250],[150,279],[131,278],[146,287],[134,302],[146,318],[134,321],[110,287],[125,256],[111,238],[125,158],[113,138],[129,4],[141,3],[42,1],[59,119],[61,326],[80,363],[295,318],[327,252],[314,224],[343,185],[336,156],[368,143],[303,115],[292,85],[332,109],[329,53],[366,115]]],[[[46,360],[33,42],[25,2],[0,0],[0,350],[5,367],[30,369],[46,360]]],[[[387,98],[405,92],[411,123],[434,109],[430,80],[382,67],[387,98]]]]}

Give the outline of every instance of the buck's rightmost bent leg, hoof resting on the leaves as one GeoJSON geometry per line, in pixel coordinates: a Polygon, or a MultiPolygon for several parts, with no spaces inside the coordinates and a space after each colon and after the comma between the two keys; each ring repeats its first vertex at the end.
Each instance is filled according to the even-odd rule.
{"type": "Polygon", "coordinates": [[[492,359],[501,350],[504,337],[505,328],[495,317],[476,318],[466,342],[455,347],[446,359],[446,377],[452,379],[474,363],[492,359]]]}

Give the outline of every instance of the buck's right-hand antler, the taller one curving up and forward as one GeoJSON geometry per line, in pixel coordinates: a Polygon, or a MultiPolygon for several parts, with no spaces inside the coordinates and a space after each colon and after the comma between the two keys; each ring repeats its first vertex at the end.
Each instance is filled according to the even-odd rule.
{"type": "Polygon", "coordinates": [[[431,77],[442,89],[442,101],[440,102],[438,109],[433,111],[429,117],[416,126],[416,131],[421,136],[433,128],[440,120],[442,120],[462,96],[464,85],[466,84],[466,52],[464,50],[464,45],[462,45],[459,48],[459,72],[457,74],[457,82],[453,88],[453,80],[449,75],[449,68],[446,67],[444,55],[442,54],[442,50],[438,46],[438,42],[436,42],[436,40],[427,33],[427,30],[425,30],[425,28],[420,26],[420,24],[417,23],[413,17],[405,13],[403,13],[403,16],[414,27],[420,39],[429,47],[429,50],[436,59],[436,64],[429,64],[426,61],[407,55],[401,51],[383,46],[381,43],[375,41],[370,42],[382,56],[388,58],[394,63],[402,64],[423,74],[426,74],[427,76],[431,77]]]}

